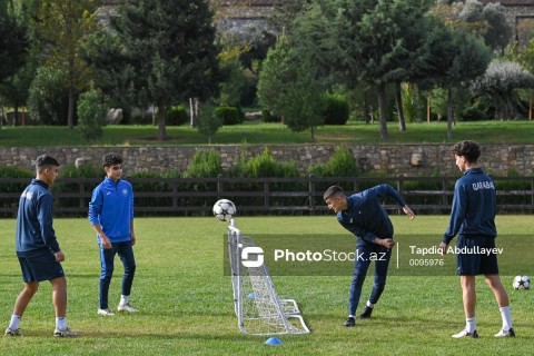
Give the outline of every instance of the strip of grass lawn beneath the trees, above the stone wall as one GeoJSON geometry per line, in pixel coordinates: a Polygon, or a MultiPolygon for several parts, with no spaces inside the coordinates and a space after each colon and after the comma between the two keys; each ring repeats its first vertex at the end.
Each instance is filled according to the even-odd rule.
{"type": "MultiPolygon", "coordinates": [[[[407,123],[407,130],[400,132],[398,123],[388,123],[389,139],[380,139],[378,122],[348,122],[345,126],[320,126],[316,130],[318,144],[446,144],[464,139],[485,144],[532,144],[534,123],[521,121],[476,121],[458,122],[453,128],[453,138],[447,139],[447,122],[407,123]]],[[[53,126],[4,126],[0,130],[0,146],[154,146],[154,145],[206,145],[207,138],[188,126],[167,127],[167,140],[157,141],[156,126],[108,126],[103,137],[85,140],[80,130],[53,126]]],[[[312,142],[309,130],[291,132],[280,123],[247,122],[225,126],[212,137],[215,145],[293,145],[312,142]]]]}

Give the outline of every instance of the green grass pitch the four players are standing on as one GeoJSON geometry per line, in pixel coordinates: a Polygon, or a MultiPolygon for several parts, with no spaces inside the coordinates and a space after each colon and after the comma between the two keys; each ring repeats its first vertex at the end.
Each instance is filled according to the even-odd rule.
{"type": "MultiPolygon", "coordinates": [[[[393,216],[396,234],[426,235],[437,245],[448,217],[418,216],[414,221],[393,216]]],[[[1,319],[7,327],[12,304],[22,287],[13,251],[14,220],[0,229],[1,319]]],[[[236,222],[255,234],[345,234],[329,217],[244,217],[236,222]]],[[[497,247],[517,249],[517,274],[534,276],[531,240],[506,246],[505,236],[532,239],[532,216],[500,216],[497,247]],[[504,235],[503,235],[504,234],[504,235]],[[524,258],[523,258],[524,257],[524,258]]],[[[56,233],[66,254],[69,283],[69,326],[81,336],[52,337],[53,308],[48,283],[24,314],[22,337],[2,337],[1,355],[533,355],[534,290],[512,289],[513,276],[502,276],[510,293],[517,337],[495,339],[501,316],[493,295],[478,279],[479,339],[453,339],[464,326],[459,278],[451,267],[445,276],[397,276],[370,320],[342,326],[346,317],[352,266],[339,276],[274,276],[281,297],[295,298],[312,329],[309,335],[279,336],[284,345],[266,346],[267,336],[239,333],[234,313],[230,277],[222,273],[226,225],[214,218],[139,218],[135,248],[137,276],[131,304],[141,312],[97,316],[99,258],[87,219],[56,219],[56,233]]],[[[347,233],[347,239],[352,237],[347,233]]],[[[118,303],[121,268],[110,288],[118,303]]],[[[366,280],[363,300],[372,280],[366,280]]],[[[362,308],[358,308],[360,310],[362,308]]],[[[2,329],[3,330],[3,329],[2,329]]]]}

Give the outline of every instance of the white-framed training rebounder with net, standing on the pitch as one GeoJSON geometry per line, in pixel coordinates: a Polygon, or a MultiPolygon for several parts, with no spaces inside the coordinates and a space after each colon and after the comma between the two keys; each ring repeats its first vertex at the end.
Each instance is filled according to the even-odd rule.
{"type": "Polygon", "coordinates": [[[243,263],[244,249],[248,257],[253,255],[250,251],[258,251],[254,240],[249,236],[243,236],[231,219],[228,226],[228,254],[234,286],[234,305],[241,333],[250,335],[309,334],[309,329],[300,316],[297,301],[278,297],[264,263],[257,260],[257,263],[246,264],[248,267],[245,266],[243,263]]]}

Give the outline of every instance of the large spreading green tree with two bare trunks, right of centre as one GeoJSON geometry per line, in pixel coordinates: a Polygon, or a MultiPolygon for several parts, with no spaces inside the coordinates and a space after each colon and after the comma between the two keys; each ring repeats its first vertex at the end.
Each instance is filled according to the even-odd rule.
{"type": "MultiPolygon", "coordinates": [[[[427,9],[426,0],[318,0],[298,18],[297,28],[303,30],[295,41],[306,43],[299,49],[306,47],[312,52],[319,77],[349,89],[376,89],[383,139],[388,137],[387,87],[395,83],[399,89],[402,81],[426,68],[427,9]]],[[[400,90],[397,109],[399,128],[404,130],[400,90]]]]}

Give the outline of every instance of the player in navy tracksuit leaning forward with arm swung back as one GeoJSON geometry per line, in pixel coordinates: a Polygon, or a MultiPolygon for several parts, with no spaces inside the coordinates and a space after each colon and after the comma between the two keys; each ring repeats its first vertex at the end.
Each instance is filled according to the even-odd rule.
{"type": "Polygon", "coordinates": [[[348,297],[348,318],[344,324],[354,326],[356,307],[370,261],[375,260],[375,280],[360,318],[370,317],[374,305],[384,291],[392,248],[395,246],[393,224],[382,201],[385,198],[392,198],[411,219],[415,215],[398,191],[385,184],[349,197],[345,196],[340,187],[332,186],[325,191],[323,198],[328,208],[337,212],[339,224],[358,237],[348,297]]]}

